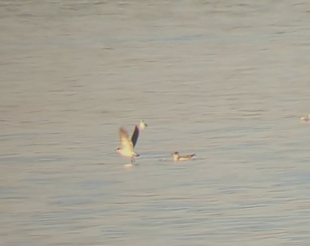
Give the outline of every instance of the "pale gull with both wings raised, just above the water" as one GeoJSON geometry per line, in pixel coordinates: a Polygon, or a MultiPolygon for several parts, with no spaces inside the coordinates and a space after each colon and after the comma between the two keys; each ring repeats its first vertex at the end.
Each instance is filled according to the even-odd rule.
{"type": "Polygon", "coordinates": [[[121,140],[121,148],[117,148],[116,151],[120,153],[122,157],[130,158],[131,164],[134,163],[134,157],[140,156],[138,153],[133,151],[135,144],[137,143],[139,137],[139,129],[137,126],[134,126],[134,130],[129,139],[128,132],[125,128],[120,127],[119,135],[121,140]]]}

